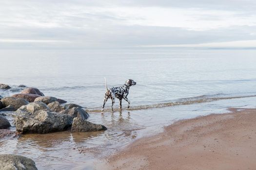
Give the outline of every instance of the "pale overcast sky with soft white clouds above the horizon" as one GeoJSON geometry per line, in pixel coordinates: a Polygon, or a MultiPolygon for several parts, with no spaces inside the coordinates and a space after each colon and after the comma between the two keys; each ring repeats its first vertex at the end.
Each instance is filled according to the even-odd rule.
{"type": "Polygon", "coordinates": [[[0,0],[0,49],[256,47],[256,0],[0,0]]]}

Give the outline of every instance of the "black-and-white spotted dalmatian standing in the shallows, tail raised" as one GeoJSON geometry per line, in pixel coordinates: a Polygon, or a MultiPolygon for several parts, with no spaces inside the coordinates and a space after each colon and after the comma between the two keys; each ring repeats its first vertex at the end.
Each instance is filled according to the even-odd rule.
{"type": "Polygon", "coordinates": [[[115,103],[116,98],[119,99],[119,105],[120,105],[119,108],[120,109],[122,109],[122,99],[124,99],[126,102],[128,102],[128,108],[129,108],[130,107],[130,101],[127,99],[127,96],[129,94],[129,89],[132,85],[136,85],[136,82],[133,81],[132,79],[129,79],[122,86],[108,88],[107,87],[107,80],[105,78],[105,86],[106,86],[107,91],[105,93],[104,103],[103,103],[103,106],[102,106],[101,113],[103,113],[105,103],[107,102],[107,100],[109,98],[112,100],[112,106],[111,106],[112,111],[114,111],[113,110],[113,105],[115,103]]]}

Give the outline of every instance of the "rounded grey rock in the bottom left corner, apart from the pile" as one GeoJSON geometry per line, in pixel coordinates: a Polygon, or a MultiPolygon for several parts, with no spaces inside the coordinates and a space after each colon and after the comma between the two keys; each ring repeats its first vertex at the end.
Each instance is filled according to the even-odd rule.
{"type": "Polygon", "coordinates": [[[1,154],[0,166],[1,170],[37,170],[32,159],[14,154],[1,154]]]}

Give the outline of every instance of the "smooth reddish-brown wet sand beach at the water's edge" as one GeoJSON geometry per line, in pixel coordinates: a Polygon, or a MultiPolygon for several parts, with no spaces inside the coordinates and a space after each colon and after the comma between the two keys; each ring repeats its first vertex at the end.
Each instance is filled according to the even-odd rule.
{"type": "MultiPolygon", "coordinates": [[[[107,158],[111,170],[256,170],[256,109],[180,120],[107,158]]],[[[106,167],[104,167],[106,168],[106,167]]]]}

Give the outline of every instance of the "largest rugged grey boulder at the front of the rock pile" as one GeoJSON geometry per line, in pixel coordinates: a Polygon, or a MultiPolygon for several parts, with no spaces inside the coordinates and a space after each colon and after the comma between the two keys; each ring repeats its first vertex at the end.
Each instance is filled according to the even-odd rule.
{"type": "Polygon", "coordinates": [[[50,133],[65,131],[72,125],[69,115],[39,110],[34,114],[23,112],[15,117],[16,130],[22,133],[50,133]]]}

